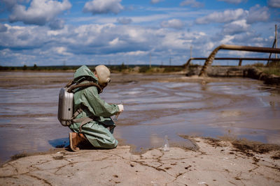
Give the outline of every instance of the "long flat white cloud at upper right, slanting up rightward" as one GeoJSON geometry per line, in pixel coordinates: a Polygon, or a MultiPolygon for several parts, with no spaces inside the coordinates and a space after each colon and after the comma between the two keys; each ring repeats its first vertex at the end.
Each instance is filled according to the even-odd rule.
{"type": "Polygon", "coordinates": [[[209,24],[212,22],[226,23],[239,20],[241,18],[246,17],[246,15],[248,15],[248,11],[239,8],[237,10],[225,10],[223,12],[214,12],[205,17],[197,18],[195,22],[197,24],[209,24]]]}

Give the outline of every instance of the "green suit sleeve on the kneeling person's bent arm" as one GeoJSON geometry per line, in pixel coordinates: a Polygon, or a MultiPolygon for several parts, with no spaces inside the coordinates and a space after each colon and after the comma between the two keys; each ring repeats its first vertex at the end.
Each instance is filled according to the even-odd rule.
{"type": "Polygon", "coordinates": [[[100,98],[95,86],[85,89],[85,99],[88,104],[87,108],[94,116],[110,117],[119,111],[117,104],[108,104],[100,98]]]}

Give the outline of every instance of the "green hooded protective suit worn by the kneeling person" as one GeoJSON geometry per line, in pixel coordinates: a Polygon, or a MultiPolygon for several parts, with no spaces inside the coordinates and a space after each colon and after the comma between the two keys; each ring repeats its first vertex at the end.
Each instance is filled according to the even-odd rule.
{"type": "MultiPolygon", "coordinates": [[[[74,81],[77,82],[85,77],[98,84],[94,73],[83,65],[74,73],[74,81]]],[[[87,83],[87,81],[81,83],[87,83]]],[[[83,125],[81,131],[90,144],[96,148],[116,148],[118,141],[113,137],[113,128],[116,125],[111,116],[118,113],[118,105],[106,103],[100,98],[97,87],[90,86],[74,90],[74,111],[80,107],[83,111],[76,118],[94,117],[94,121],[83,125]],[[106,127],[112,129],[109,131],[106,127]]],[[[79,132],[80,123],[73,123],[69,127],[73,132],[79,132]]]]}

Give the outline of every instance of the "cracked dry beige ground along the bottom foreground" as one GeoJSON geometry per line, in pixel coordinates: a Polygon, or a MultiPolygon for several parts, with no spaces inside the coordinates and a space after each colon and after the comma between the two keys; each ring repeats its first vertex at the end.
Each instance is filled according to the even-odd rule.
{"type": "Polygon", "coordinates": [[[248,156],[230,142],[193,140],[197,151],[132,155],[119,146],[22,157],[1,167],[0,185],[280,185],[280,160],[271,158],[279,151],[248,156]]]}

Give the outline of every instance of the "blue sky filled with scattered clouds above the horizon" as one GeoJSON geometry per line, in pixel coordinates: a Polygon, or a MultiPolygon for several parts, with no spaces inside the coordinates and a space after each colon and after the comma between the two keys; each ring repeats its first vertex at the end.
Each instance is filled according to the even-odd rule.
{"type": "Polygon", "coordinates": [[[183,65],[272,47],[275,24],[280,0],[0,0],[0,65],[183,65]]]}

